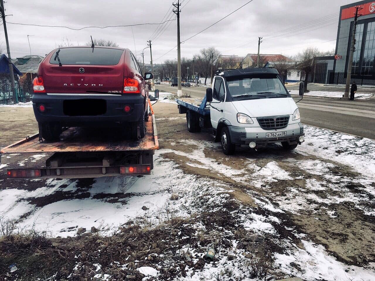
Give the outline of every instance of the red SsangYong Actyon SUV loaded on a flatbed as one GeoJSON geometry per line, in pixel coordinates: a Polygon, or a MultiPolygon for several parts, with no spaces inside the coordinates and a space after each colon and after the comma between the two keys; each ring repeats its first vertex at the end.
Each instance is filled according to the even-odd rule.
{"type": "Polygon", "coordinates": [[[129,49],[64,47],[50,52],[33,81],[39,132],[58,139],[62,127],[120,126],[132,139],[145,135],[148,87],[129,49]]]}

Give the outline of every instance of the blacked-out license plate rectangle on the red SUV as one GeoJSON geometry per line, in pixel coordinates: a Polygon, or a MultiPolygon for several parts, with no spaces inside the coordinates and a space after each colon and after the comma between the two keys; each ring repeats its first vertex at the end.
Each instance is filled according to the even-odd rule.
{"type": "Polygon", "coordinates": [[[107,102],[102,99],[64,100],[63,107],[68,116],[96,116],[107,112],[107,102]]]}

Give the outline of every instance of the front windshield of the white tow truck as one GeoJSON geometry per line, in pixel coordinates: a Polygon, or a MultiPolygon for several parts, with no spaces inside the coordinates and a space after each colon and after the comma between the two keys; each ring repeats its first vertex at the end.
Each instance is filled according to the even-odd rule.
{"type": "Polygon", "coordinates": [[[277,76],[233,77],[226,82],[233,100],[290,97],[277,76]]]}

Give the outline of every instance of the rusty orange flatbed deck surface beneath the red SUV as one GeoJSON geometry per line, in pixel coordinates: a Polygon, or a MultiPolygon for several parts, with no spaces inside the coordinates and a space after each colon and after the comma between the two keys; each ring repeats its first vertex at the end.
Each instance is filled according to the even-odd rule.
{"type": "Polygon", "coordinates": [[[124,140],[119,129],[69,128],[57,142],[39,142],[39,134],[22,139],[5,148],[1,153],[40,152],[99,152],[99,151],[142,151],[159,148],[154,114],[146,124],[146,135],[140,141],[124,140]]]}

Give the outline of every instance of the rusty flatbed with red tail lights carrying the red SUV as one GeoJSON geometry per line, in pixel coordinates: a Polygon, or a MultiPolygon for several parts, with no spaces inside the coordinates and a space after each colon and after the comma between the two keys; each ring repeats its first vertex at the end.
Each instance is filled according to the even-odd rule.
{"type": "MultiPolygon", "coordinates": [[[[10,168],[9,178],[98,178],[116,175],[149,175],[159,149],[155,116],[150,105],[146,135],[124,140],[116,130],[68,128],[60,141],[39,141],[39,133],[1,149],[2,154],[53,153],[45,165],[10,168]]],[[[37,163],[35,163],[37,164],[37,163]]]]}

